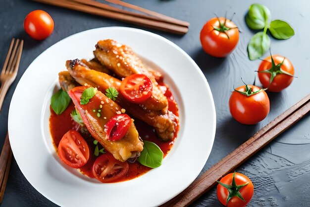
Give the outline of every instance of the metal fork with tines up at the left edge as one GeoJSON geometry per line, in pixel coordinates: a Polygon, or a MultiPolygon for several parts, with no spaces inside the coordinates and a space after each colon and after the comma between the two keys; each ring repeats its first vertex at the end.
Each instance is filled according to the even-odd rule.
{"type": "Polygon", "coordinates": [[[23,40],[16,39],[15,41],[15,39],[13,38],[11,41],[11,45],[0,74],[0,111],[2,108],[4,96],[8,88],[16,78],[19,68],[20,57],[23,50],[23,44],[23,40]]]}

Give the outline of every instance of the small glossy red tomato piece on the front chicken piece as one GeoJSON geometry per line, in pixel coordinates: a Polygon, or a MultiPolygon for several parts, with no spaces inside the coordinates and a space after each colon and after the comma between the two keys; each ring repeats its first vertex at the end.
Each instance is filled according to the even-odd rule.
{"type": "Polygon", "coordinates": [[[131,125],[131,118],[127,114],[113,116],[105,125],[106,139],[116,141],[127,134],[131,125]]]}

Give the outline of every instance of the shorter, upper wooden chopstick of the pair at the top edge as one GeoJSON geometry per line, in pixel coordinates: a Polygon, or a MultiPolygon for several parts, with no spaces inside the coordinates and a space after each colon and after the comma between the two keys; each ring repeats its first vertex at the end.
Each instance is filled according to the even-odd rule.
{"type": "Polygon", "coordinates": [[[155,11],[151,11],[151,10],[148,10],[148,9],[142,8],[140,6],[136,6],[136,5],[133,5],[133,4],[121,1],[121,0],[105,0],[105,1],[110,2],[110,3],[114,3],[114,4],[118,4],[118,5],[121,5],[121,6],[125,6],[127,8],[131,8],[131,9],[134,9],[134,10],[137,10],[137,11],[140,11],[140,12],[143,12],[143,13],[155,16],[155,17],[159,18],[162,21],[167,21],[167,22],[170,22],[170,23],[179,24],[179,25],[182,25],[182,26],[185,26],[185,27],[189,27],[189,25],[190,25],[189,22],[182,21],[182,20],[179,20],[179,19],[175,19],[175,18],[172,18],[170,16],[166,16],[166,15],[163,15],[161,13],[157,13],[155,11]]]}

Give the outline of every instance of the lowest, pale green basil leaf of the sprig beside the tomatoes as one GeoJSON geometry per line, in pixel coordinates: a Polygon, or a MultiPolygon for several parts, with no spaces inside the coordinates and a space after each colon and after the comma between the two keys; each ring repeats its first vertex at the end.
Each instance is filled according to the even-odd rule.
{"type": "Polygon", "coordinates": [[[270,48],[270,39],[264,32],[256,33],[248,45],[248,55],[251,61],[261,57],[270,48]]]}

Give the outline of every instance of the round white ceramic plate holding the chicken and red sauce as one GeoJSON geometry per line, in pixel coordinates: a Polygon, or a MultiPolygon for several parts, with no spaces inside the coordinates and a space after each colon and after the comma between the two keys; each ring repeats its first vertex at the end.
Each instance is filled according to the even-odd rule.
{"type": "Polygon", "coordinates": [[[92,29],[43,52],[20,79],[12,97],[8,131],[17,164],[43,196],[62,207],[154,207],[188,187],[203,169],[215,135],[215,108],[207,80],[178,46],[156,34],[126,27],[92,29]],[[91,59],[98,40],[114,39],[161,69],[180,108],[180,131],[162,165],[139,178],[102,184],[64,166],[49,129],[50,100],[58,72],[69,59],[91,59]]]}

